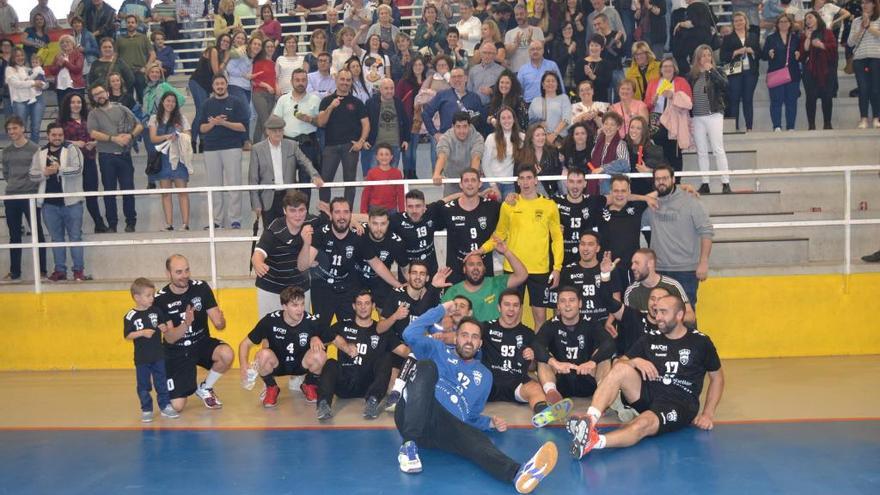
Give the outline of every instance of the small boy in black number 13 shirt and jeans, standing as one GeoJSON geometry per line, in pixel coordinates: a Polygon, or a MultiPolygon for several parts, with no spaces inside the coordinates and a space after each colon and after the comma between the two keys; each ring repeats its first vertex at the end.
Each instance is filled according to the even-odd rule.
{"type": "Polygon", "coordinates": [[[134,342],[134,367],[137,373],[137,392],[141,401],[141,421],[153,421],[153,399],[150,390],[156,388],[156,402],[162,416],[179,418],[171,407],[168,383],[165,378],[165,354],[162,352],[162,334],[171,326],[171,319],[153,305],[156,286],[145,278],[131,284],[134,309],[122,322],[122,334],[134,342]],[[150,379],[152,378],[152,385],[150,379]]]}

